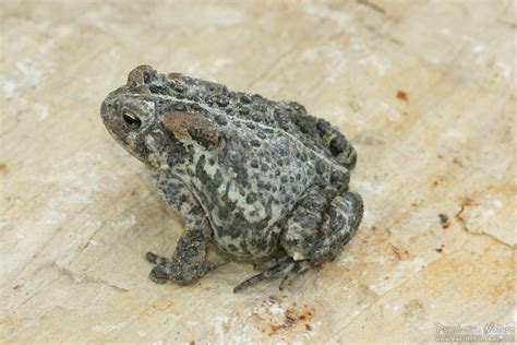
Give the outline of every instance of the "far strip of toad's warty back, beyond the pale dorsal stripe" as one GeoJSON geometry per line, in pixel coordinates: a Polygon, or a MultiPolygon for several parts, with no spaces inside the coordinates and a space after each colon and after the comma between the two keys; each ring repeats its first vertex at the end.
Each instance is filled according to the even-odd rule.
{"type": "Polygon", "coordinates": [[[298,103],[273,102],[261,95],[229,91],[225,85],[179,73],[149,78],[146,86],[151,94],[165,102],[181,100],[200,107],[200,111],[206,110],[223,128],[228,119],[235,119],[235,123],[249,128],[262,126],[281,130],[347,169],[356,165],[356,151],[345,135],[326,120],[309,115],[298,103]]]}

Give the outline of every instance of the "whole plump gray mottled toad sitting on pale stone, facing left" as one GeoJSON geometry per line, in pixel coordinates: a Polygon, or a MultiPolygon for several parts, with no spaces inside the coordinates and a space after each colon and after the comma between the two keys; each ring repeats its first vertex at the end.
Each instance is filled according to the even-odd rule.
{"type": "Polygon", "coordinates": [[[185,219],[171,259],[147,253],[157,283],[190,284],[218,266],[205,260],[215,243],[263,262],[236,292],[276,276],[284,285],[333,260],[361,223],[362,200],[348,191],[356,151],[298,103],[141,66],[100,114],[185,219]]]}

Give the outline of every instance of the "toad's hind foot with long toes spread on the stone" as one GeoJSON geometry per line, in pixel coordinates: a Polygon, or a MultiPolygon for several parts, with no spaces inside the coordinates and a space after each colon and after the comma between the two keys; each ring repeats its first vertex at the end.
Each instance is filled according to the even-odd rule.
{"type": "Polygon", "coordinates": [[[254,275],[251,278],[236,286],[236,288],[233,288],[233,293],[240,293],[252,285],[280,276],[282,277],[282,279],[279,289],[282,289],[287,285],[287,283],[292,279],[292,277],[312,267],[312,265],[313,264],[310,263],[308,260],[294,261],[292,260],[292,258],[289,258],[287,255],[282,257],[277,260],[276,265],[264,270],[262,273],[254,275]]]}

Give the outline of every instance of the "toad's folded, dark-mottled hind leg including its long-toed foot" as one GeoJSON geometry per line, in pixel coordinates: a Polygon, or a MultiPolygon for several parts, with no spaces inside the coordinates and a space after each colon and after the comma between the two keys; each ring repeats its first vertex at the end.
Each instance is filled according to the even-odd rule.
{"type": "Polygon", "coordinates": [[[276,264],[235,288],[238,293],[265,279],[293,276],[333,260],[356,234],[363,214],[361,197],[333,189],[313,189],[298,204],[280,237],[286,253],[276,264]]]}

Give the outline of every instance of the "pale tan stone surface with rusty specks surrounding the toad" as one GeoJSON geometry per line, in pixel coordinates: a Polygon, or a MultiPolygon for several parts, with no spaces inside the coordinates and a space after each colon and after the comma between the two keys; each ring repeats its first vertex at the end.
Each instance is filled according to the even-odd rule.
{"type": "Polygon", "coordinates": [[[432,342],[517,321],[510,1],[2,1],[0,341],[432,342]],[[296,99],[359,152],[366,212],[287,290],[147,279],[181,219],[99,105],[137,64],[296,99]],[[441,222],[438,214],[448,221],[441,222]]]}

